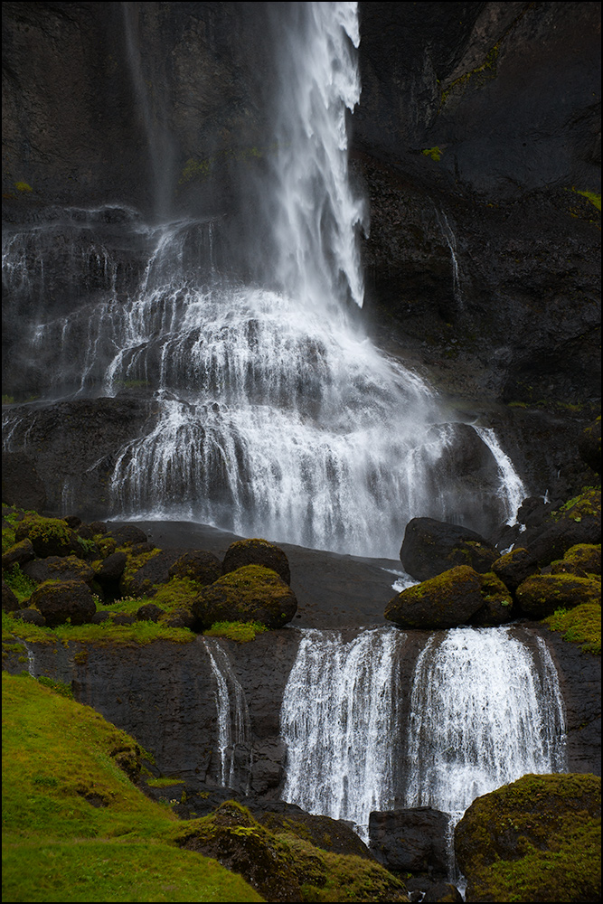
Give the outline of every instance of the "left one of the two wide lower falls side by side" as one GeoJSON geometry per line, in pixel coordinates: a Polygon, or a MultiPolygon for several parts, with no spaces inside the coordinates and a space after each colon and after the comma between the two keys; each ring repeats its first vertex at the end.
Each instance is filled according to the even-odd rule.
{"type": "Polygon", "coordinates": [[[395,653],[404,635],[372,628],[303,632],[280,714],[287,745],[284,798],[310,813],[351,820],[366,838],[369,814],[394,797],[395,653]]]}

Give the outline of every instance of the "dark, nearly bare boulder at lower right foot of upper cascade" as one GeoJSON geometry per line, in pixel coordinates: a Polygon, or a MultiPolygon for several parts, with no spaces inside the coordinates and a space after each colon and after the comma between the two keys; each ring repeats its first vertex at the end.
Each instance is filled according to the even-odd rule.
{"type": "Polygon", "coordinates": [[[413,518],[400,549],[404,570],[417,580],[435,578],[455,565],[484,573],[497,558],[494,546],[476,532],[434,518],[413,518]]]}

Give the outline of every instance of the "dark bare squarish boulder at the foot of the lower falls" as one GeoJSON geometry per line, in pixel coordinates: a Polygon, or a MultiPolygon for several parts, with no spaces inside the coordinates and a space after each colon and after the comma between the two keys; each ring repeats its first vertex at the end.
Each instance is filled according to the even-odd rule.
{"type": "Polygon", "coordinates": [[[445,875],[448,814],[430,806],[374,811],[369,817],[371,851],[388,870],[445,875]]]}

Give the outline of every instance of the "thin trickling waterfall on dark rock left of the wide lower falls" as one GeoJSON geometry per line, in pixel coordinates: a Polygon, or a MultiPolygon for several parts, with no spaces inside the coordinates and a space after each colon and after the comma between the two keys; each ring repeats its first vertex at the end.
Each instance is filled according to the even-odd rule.
{"type": "Polygon", "coordinates": [[[215,700],[218,721],[218,751],[220,753],[220,784],[250,789],[251,726],[250,713],[240,682],[232,671],[230,660],[217,641],[203,638],[210,657],[216,683],[215,700]],[[241,757],[242,755],[242,757],[241,757]],[[243,772],[244,781],[238,779],[243,772]]]}

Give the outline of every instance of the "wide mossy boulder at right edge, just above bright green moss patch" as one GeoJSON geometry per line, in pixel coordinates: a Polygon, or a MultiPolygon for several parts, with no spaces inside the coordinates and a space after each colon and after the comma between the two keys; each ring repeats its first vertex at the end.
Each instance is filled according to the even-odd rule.
{"type": "Polygon", "coordinates": [[[572,574],[534,574],[517,588],[515,598],[523,615],[546,618],[555,609],[572,609],[580,603],[601,600],[601,582],[572,574]]]}

